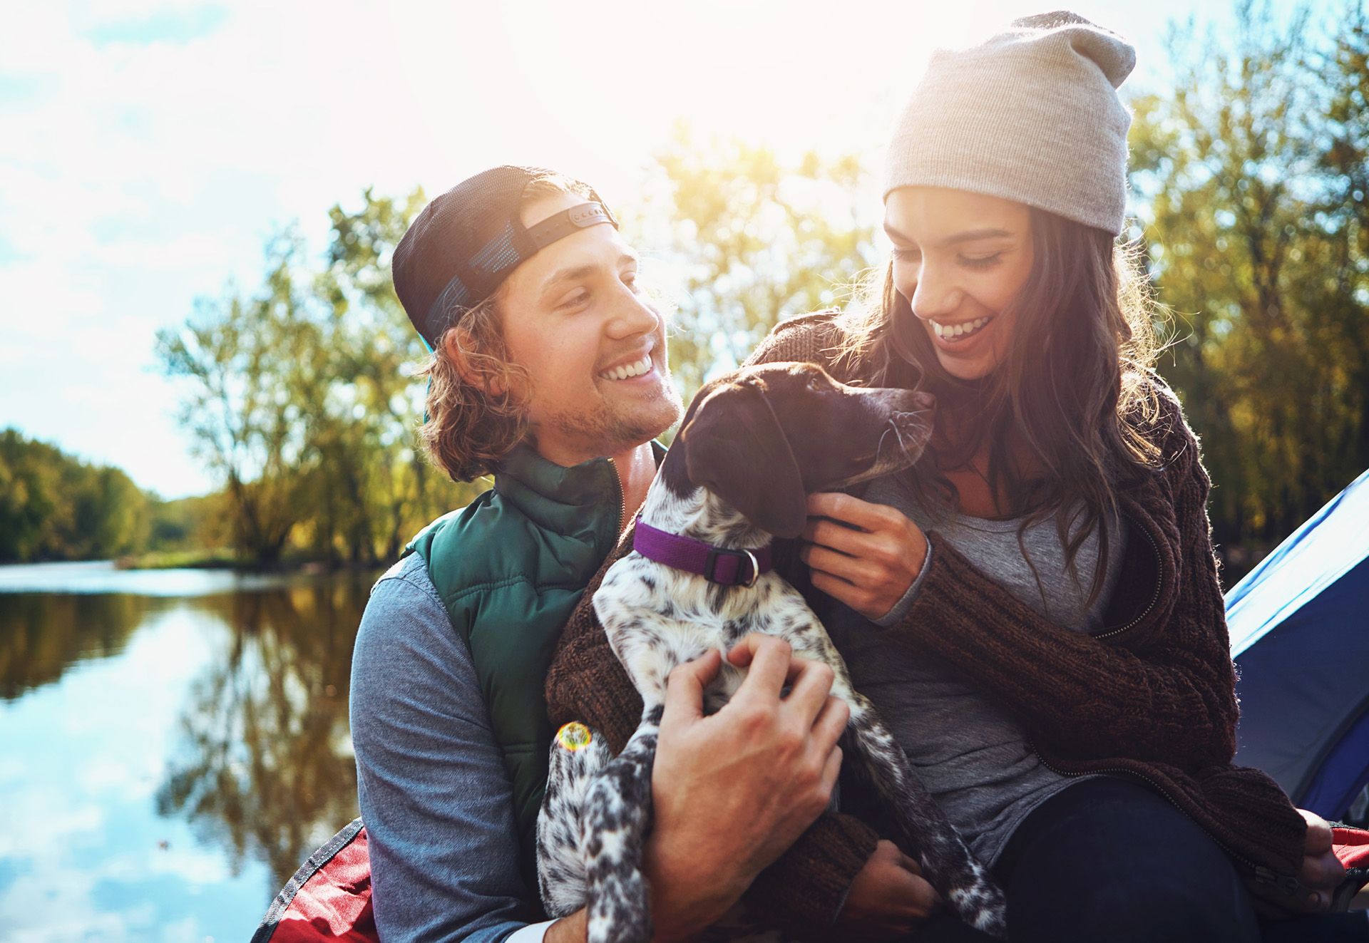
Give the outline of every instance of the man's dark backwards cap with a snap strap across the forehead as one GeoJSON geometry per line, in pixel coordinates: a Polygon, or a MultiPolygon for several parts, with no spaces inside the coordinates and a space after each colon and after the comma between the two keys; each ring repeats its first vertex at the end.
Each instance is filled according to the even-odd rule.
{"type": "Polygon", "coordinates": [[[394,248],[394,292],[430,349],[539,249],[586,226],[617,227],[593,188],[591,201],[524,227],[523,189],[550,174],[541,167],[494,167],[433,200],[409,224],[394,248]]]}

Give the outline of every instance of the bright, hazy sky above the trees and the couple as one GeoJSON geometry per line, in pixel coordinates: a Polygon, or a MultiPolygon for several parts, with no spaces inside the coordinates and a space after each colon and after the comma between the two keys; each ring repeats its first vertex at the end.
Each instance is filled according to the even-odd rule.
{"type": "MultiPolygon", "coordinates": [[[[682,115],[878,167],[935,45],[1060,3],[5,4],[0,428],[166,497],[209,490],[153,334],[229,279],[255,290],[277,226],[322,250],[327,208],[368,185],[435,196],[500,163],[624,207],[682,115]]],[[[1136,85],[1162,81],[1166,22],[1194,5],[1073,0],[1136,44],[1136,85]]]]}

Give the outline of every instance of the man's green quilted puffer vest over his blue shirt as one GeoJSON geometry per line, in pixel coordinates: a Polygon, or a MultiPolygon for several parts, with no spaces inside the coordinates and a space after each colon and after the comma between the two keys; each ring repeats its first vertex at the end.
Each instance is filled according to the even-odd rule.
{"type": "MultiPolygon", "coordinates": [[[[660,464],[665,449],[653,442],[660,464]]],[[[494,487],[407,547],[427,564],[465,642],[513,784],[519,866],[537,891],[537,812],[552,721],[543,687],[561,627],[617,543],[623,486],[611,458],[563,468],[522,443],[494,487]]]]}

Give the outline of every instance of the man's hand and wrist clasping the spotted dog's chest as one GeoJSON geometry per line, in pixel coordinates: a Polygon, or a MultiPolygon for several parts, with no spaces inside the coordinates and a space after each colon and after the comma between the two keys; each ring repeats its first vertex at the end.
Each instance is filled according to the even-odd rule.
{"type": "Polygon", "coordinates": [[[768,635],[727,658],[750,671],[716,714],[704,716],[704,687],[717,651],[676,667],[667,686],[643,862],[657,939],[695,933],[735,903],[823,813],[841,769],[850,708],[831,697],[831,668],[768,635]]]}

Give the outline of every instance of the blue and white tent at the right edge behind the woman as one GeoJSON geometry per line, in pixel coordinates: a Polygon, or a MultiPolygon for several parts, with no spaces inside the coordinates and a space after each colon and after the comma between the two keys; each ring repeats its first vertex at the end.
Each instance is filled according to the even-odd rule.
{"type": "Polygon", "coordinates": [[[1236,762],[1329,820],[1369,783],[1369,472],[1227,594],[1236,762]]]}

